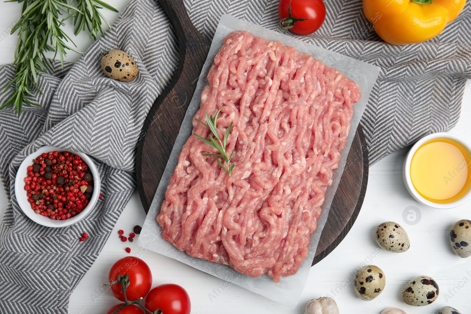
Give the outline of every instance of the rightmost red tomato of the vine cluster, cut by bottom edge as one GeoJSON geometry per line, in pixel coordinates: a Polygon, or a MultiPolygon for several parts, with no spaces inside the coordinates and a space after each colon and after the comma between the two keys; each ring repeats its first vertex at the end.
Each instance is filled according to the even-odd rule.
{"type": "Polygon", "coordinates": [[[146,309],[151,312],[160,309],[163,314],[190,314],[190,297],[178,284],[162,284],[150,290],[146,309]]]}

